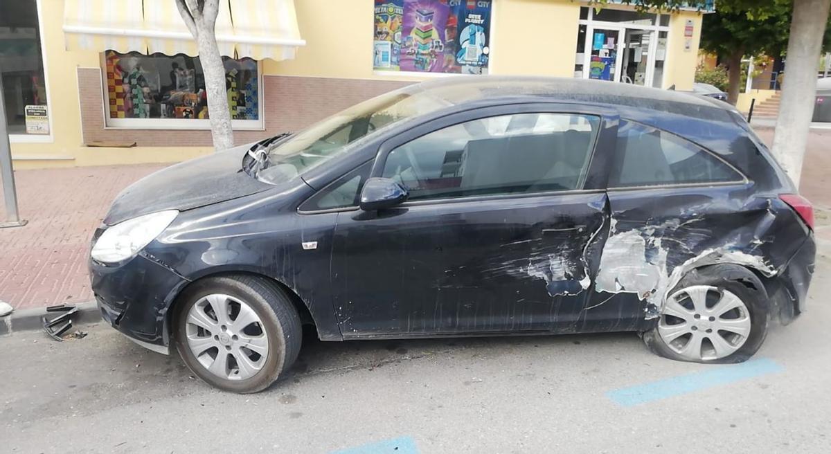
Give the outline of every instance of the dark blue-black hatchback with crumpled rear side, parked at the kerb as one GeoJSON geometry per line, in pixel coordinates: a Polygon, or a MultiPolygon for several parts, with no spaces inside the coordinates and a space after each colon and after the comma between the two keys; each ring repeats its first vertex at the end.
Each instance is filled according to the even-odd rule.
{"type": "Polygon", "coordinates": [[[729,105],[452,78],[165,168],[96,230],[101,315],[248,393],[319,339],[633,331],[732,363],[804,310],[813,211],[729,105]]]}

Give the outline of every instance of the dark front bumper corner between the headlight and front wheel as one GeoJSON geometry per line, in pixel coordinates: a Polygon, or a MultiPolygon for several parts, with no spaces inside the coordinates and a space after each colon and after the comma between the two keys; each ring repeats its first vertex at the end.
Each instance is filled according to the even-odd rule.
{"type": "Polygon", "coordinates": [[[167,313],[188,280],[143,253],[116,266],[91,260],[90,277],[101,317],[136,343],[166,353],[167,313]]]}

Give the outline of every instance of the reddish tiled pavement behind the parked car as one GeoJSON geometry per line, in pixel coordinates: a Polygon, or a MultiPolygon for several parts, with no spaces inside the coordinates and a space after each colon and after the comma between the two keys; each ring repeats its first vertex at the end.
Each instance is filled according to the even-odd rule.
{"type": "MultiPolygon", "coordinates": [[[[772,142],[772,129],[759,133],[772,142]]],[[[122,188],[165,165],[16,172],[18,205],[29,223],[0,229],[0,300],[18,309],[91,300],[86,256],[92,231],[122,188]]],[[[814,131],[802,193],[817,207],[831,208],[829,189],[831,131],[814,131]]],[[[5,219],[2,207],[0,219],[5,219]]],[[[818,220],[823,222],[823,216],[818,220]]],[[[831,226],[818,228],[817,235],[831,241],[831,226]]]]}

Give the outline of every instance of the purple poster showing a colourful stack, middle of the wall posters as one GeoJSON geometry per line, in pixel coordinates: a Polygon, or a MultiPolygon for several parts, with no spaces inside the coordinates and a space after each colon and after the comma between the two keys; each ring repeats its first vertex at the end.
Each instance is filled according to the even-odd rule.
{"type": "Polygon", "coordinates": [[[401,71],[442,72],[450,7],[435,0],[406,0],[401,71]]]}

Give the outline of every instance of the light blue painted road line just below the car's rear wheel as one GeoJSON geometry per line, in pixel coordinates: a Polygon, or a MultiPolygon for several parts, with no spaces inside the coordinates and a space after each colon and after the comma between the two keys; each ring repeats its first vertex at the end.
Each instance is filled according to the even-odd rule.
{"type": "Polygon", "coordinates": [[[642,403],[694,393],[702,389],[738,382],[747,378],[759,377],[766,373],[779,372],[782,369],[782,366],[776,364],[772,359],[750,359],[750,361],[741,364],[713,366],[713,369],[705,372],[688,373],[679,377],[665,378],[629,388],[613,389],[608,391],[606,396],[622,407],[633,407],[642,403]]]}

